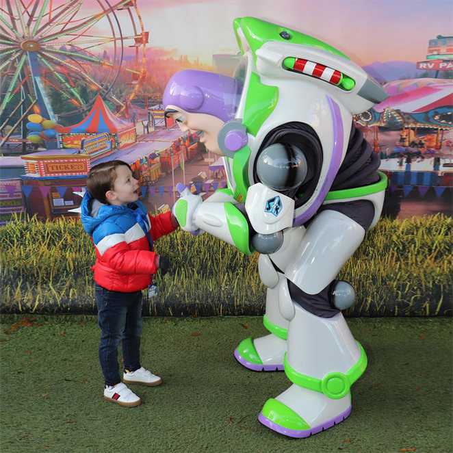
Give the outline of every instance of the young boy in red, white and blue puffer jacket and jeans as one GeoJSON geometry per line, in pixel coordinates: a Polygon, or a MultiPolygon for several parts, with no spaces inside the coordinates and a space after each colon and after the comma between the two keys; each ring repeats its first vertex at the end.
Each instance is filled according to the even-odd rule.
{"type": "Polygon", "coordinates": [[[113,160],[94,166],[81,204],[81,221],[96,249],[93,266],[98,322],[99,361],[105,378],[104,398],[121,406],[138,406],[140,398],[125,383],[161,384],[140,365],[142,289],[169,261],[153,251],[153,241],[178,227],[170,212],[149,216],[138,200],[139,185],[131,167],[113,160]],[[122,341],[124,374],[118,372],[122,341]]]}

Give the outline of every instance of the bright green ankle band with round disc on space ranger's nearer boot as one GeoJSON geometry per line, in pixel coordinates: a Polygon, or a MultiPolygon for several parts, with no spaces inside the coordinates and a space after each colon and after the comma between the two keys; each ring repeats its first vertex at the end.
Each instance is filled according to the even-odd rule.
{"type": "Polygon", "coordinates": [[[360,349],[360,358],[355,365],[350,367],[346,374],[339,372],[328,373],[322,379],[307,376],[306,374],[296,372],[296,370],[289,365],[287,354],[285,354],[284,359],[285,374],[292,383],[299,385],[300,387],[319,391],[333,400],[343,398],[349,393],[352,384],[359,379],[367,367],[367,354],[359,341],[357,341],[357,345],[360,349]]]}

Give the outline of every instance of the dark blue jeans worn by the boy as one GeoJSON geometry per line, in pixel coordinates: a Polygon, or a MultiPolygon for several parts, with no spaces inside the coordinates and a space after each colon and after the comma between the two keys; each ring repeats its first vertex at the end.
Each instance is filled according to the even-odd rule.
{"type": "Polygon", "coordinates": [[[121,382],[118,371],[118,345],[122,341],[125,370],[140,368],[142,335],[142,292],[120,293],[95,285],[98,324],[101,328],[99,362],[106,385],[121,382]]]}

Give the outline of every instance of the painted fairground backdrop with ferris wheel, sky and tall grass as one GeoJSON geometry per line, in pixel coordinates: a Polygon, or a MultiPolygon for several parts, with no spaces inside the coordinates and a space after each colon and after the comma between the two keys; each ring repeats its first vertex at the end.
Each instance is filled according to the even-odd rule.
{"type": "MultiPolygon", "coordinates": [[[[12,2],[0,0],[1,312],[96,312],[94,251],[77,218],[90,164],[129,161],[153,212],[171,207],[178,182],[203,196],[224,185],[218,162],[196,137],[168,128],[159,104],[177,70],[231,75],[238,51],[233,18],[257,16],[332,44],[389,94],[356,118],[380,154],[389,187],[383,220],[341,271],[358,294],[346,314],[452,315],[449,1],[137,0],[111,10],[91,0],[39,1],[36,9],[26,3],[10,11],[12,2]],[[26,33],[28,53],[39,55],[21,66],[24,49],[17,46],[26,33]],[[42,37],[46,46],[39,44],[42,37]],[[46,118],[33,103],[38,77],[58,140],[41,127],[50,113],[46,118]],[[90,122],[93,112],[104,118],[105,130],[90,122]],[[29,114],[42,118],[32,121],[29,114]],[[49,155],[61,164],[70,146],[79,151],[76,129],[85,138],[97,134],[96,146],[106,148],[99,145],[98,155],[64,174],[38,171],[49,155]],[[40,138],[28,139],[33,136],[40,138]]],[[[263,313],[257,255],[245,257],[208,235],[182,232],[155,246],[172,261],[172,272],[157,276],[158,294],[146,298],[144,314],[263,313]]]]}

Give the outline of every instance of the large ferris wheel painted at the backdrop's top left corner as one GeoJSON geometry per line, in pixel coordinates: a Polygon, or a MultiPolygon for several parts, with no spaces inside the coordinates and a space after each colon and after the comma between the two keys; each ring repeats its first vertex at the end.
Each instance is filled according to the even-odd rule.
{"type": "Polygon", "coordinates": [[[64,122],[97,93],[120,114],[146,76],[147,42],[136,0],[0,0],[0,127],[19,113],[64,122]]]}

